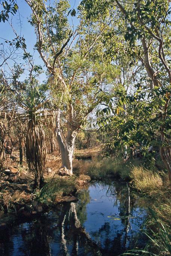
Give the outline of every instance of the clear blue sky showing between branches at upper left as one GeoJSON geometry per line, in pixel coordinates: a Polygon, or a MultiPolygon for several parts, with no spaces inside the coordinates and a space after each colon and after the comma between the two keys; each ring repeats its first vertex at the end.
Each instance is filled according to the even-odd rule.
{"type": "MultiPolygon", "coordinates": [[[[1,1],[2,0],[0,0],[0,2],[1,1]]],[[[53,0],[51,0],[51,3],[52,2],[53,0]]],[[[76,9],[79,3],[80,3],[80,0],[70,0],[71,8],[76,9]]],[[[27,18],[31,14],[31,9],[24,0],[17,0],[17,4],[18,4],[19,10],[17,14],[14,15],[14,17],[12,17],[12,24],[18,34],[20,34],[20,29],[21,29],[21,36],[23,36],[26,39],[27,52],[30,52],[30,54],[33,54],[33,47],[34,47],[34,44],[36,43],[35,30],[27,20],[27,18]],[[20,16],[19,16],[19,13],[20,13],[20,16]],[[21,19],[22,28],[20,28],[20,19],[21,19]]],[[[75,26],[77,25],[77,18],[73,18],[73,23],[75,26]]],[[[4,38],[6,40],[12,40],[13,38],[15,38],[12,28],[7,22],[0,23],[0,43],[4,41],[1,38],[4,38]]],[[[40,59],[37,51],[35,51],[33,56],[34,56],[35,64],[41,64],[43,66],[43,62],[40,59]]],[[[12,63],[10,64],[12,65],[12,63]]],[[[42,82],[43,80],[45,80],[45,74],[42,74],[40,77],[40,81],[42,82]]]]}

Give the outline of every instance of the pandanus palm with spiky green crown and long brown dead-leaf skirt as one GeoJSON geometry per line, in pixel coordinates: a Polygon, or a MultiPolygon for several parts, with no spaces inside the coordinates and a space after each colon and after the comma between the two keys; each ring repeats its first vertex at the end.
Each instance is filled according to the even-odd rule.
{"type": "Polygon", "coordinates": [[[39,94],[38,85],[32,86],[27,94],[18,97],[18,113],[26,123],[26,160],[30,172],[35,175],[34,187],[42,188],[46,161],[46,142],[44,121],[47,113],[44,105],[47,101],[39,94]]]}

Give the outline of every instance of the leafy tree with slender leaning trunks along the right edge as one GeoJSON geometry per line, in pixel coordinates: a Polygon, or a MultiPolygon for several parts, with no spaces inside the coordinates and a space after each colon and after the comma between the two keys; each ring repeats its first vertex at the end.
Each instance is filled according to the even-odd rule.
{"type": "MultiPolygon", "coordinates": [[[[85,8],[88,19],[97,18],[109,10],[111,11],[110,15],[118,15],[120,20],[114,24],[113,28],[124,35],[124,40],[128,43],[126,54],[132,57],[132,64],[138,60],[147,74],[146,77],[144,74],[136,76],[135,94],[130,97],[129,103],[132,104],[132,111],[136,112],[139,109],[138,120],[141,120],[139,124],[135,124],[138,120],[133,117],[133,112],[130,112],[130,116],[132,116],[131,131],[136,130],[138,132],[137,129],[144,124],[145,133],[148,133],[148,136],[145,139],[141,133],[141,140],[145,139],[148,143],[151,140],[152,127],[152,133],[160,133],[160,156],[171,181],[169,124],[171,97],[169,15],[171,11],[169,1],[83,0],[81,5],[85,8]],[[99,13],[97,12],[98,9],[100,10],[99,13]]],[[[110,40],[112,38],[113,35],[110,40]]],[[[123,112],[125,111],[123,110],[123,112]]],[[[124,125],[125,123],[123,123],[124,125]]],[[[125,130],[124,134],[126,133],[125,130]]]]}

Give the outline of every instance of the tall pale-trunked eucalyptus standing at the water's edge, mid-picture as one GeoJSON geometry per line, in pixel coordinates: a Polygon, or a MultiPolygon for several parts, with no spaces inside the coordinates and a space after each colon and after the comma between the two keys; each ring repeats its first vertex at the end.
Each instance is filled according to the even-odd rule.
{"type": "MultiPolygon", "coordinates": [[[[70,25],[67,0],[45,6],[42,0],[26,0],[32,10],[35,44],[48,72],[48,84],[56,106],[56,137],[62,166],[72,175],[72,159],[76,135],[87,115],[103,100],[104,91],[115,80],[115,64],[104,57],[103,34],[108,20],[86,21],[78,11],[76,28],[70,25]],[[61,119],[66,122],[67,136],[62,138],[61,119]]],[[[71,14],[76,15],[76,11],[71,14]]]]}

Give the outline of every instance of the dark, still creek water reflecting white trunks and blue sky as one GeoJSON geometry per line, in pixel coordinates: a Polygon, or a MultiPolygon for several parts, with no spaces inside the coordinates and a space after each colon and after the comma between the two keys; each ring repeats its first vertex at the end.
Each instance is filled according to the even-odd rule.
{"type": "Polygon", "coordinates": [[[1,233],[0,256],[117,256],[144,245],[146,218],[128,184],[96,182],[79,193],[78,202],[1,233]]]}

